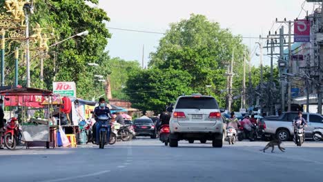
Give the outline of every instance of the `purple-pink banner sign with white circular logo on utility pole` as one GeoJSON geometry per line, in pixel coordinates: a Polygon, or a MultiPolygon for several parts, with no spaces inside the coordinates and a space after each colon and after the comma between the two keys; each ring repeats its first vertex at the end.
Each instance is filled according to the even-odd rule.
{"type": "Polygon", "coordinates": [[[306,19],[294,21],[294,42],[309,42],[311,23],[306,19]]]}

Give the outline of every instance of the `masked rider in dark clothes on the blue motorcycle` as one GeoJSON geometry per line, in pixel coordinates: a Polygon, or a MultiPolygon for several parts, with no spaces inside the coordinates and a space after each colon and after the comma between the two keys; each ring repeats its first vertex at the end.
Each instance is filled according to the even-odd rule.
{"type": "MultiPolygon", "coordinates": [[[[106,106],[106,100],[104,98],[99,99],[99,106],[97,106],[92,114],[92,118],[97,121],[97,117],[101,115],[106,115],[107,117],[111,117],[111,111],[110,109],[106,106]]],[[[93,136],[93,141],[97,141],[96,139],[99,138],[99,132],[97,132],[100,128],[100,125],[95,122],[95,124],[92,126],[92,136],[93,136]]],[[[110,139],[110,130],[111,126],[108,129],[108,139],[110,139]]]]}

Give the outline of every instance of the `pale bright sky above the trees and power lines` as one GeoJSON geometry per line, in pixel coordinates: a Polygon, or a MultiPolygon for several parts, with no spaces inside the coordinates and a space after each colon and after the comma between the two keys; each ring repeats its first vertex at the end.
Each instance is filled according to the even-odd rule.
{"type": "MultiPolygon", "coordinates": [[[[302,10],[303,3],[304,0],[100,0],[99,8],[106,10],[111,19],[106,25],[108,28],[165,32],[169,23],[188,19],[194,13],[206,15],[210,21],[219,22],[222,28],[229,28],[233,34],[242,34],[244,37],[259,37],[262,34],[266,37],[268,30],[272,28],[274,32],[280,27],[280,23],[274,23],[276,17],[279,20],[293,20],[299,14],[300,18],[304,17],[305,10],[310,14],[315,4],[305,2],[302,10]]],[[[106,50],[110,52],[110,57],[141,63],[144,45],[145,66],[149,61],[149,53],[155,52],[159,39],[163,37],[163,34],[109,31],[112,38],[108,40],[106,50]]],[[[244,39],[251,50],[256,48],[255,41],[258,40],[244,39]]],[[[253,65],[259,65],[257,59],[253,56],[253,65]]],[[[270,64],[269,60],[269,57],[264,56],[266,65],[270,64]]]]}

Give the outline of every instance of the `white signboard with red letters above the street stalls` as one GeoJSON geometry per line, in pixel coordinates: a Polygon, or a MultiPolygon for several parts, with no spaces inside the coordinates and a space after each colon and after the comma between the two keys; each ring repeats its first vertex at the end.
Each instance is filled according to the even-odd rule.
{"type": "Polygon", "coordinates": [[[76,85],[75,82],[53,82],[52,92],[59,94],[62,97],[76,97],[76,85]]]}

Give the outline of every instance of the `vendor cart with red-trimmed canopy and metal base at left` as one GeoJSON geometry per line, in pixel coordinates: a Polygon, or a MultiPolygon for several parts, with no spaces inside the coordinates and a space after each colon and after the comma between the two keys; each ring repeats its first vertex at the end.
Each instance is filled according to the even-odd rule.
{"type": "Polygon", "coordinates": [[[21,137],[10,138],[17,142],[8,142],[10,149],[14,149],[11,146],[14,143],[25,143],[26,148],[39,145],[50,148],[50,138],[55,143],[55,137],[50,137],[52,92],[37,88],[12,88],[1,91],[0,95],[4,97],[5,106],[10,106],[10,118],[17,120],[21,126],[21,137]],[[48,104],[42,105],[43,101],[47,101],[48,104]]]}

